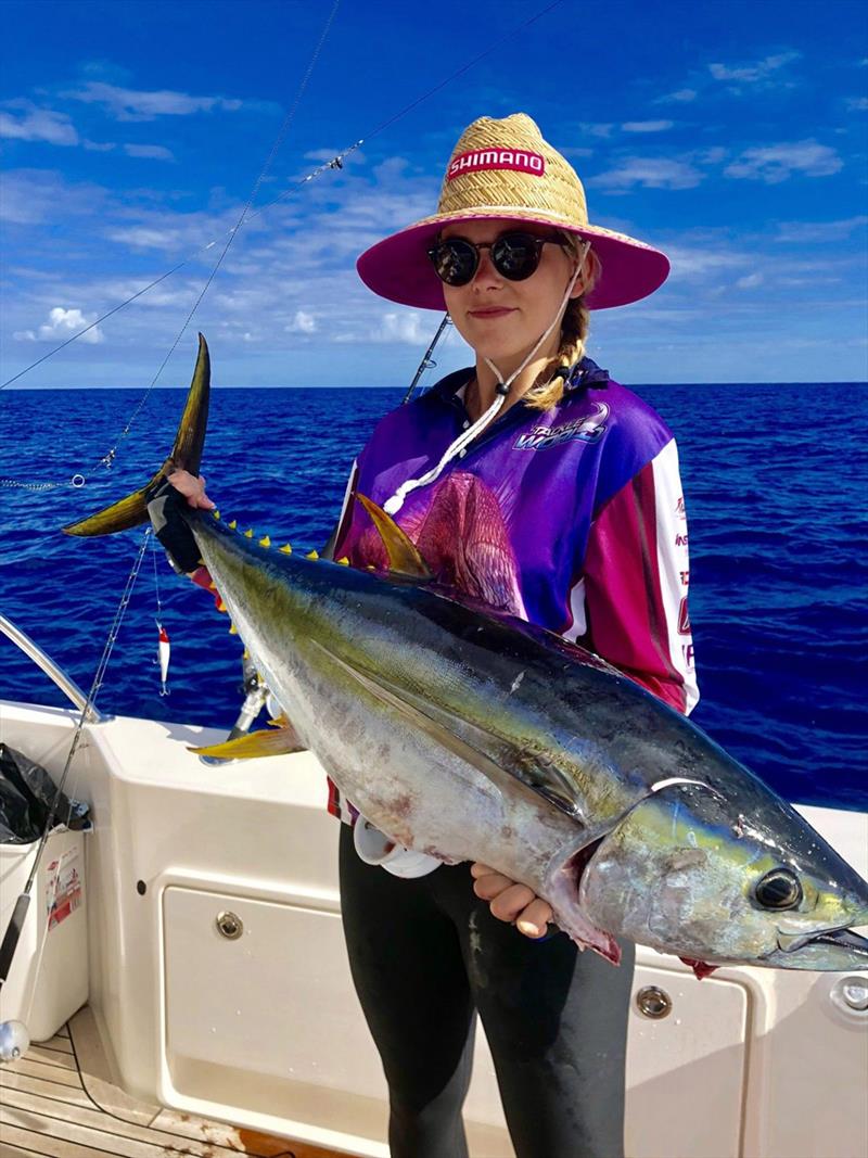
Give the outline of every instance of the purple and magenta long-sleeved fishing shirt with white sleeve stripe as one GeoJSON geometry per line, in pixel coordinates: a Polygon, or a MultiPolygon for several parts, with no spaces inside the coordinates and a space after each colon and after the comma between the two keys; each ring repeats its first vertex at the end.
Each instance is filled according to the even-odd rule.
{"type": "MultiPolygon", "coordinates": [[[[353,464],[334,558],[388,569],[354,496],[380,506],[470,426],[457,371],[388,413],[353,464]]],[[[520,400],[404,499],[436,580],[595,652],[677,711],[699,699],[678,452],[660,415],[590,358],[546,411],[520,400]]],[[[329,811],[356,811],[330,782],[329,811]]]]}

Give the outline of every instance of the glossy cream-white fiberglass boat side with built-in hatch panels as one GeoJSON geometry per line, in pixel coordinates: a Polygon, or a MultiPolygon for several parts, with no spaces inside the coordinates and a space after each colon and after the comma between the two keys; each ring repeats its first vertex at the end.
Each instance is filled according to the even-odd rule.
{"type": "MultiPolygon", "coordinates": [[[[58,709],[0,704],[0,740],[54,774],[73,726],[58,709]]],[[[115,1079],[178,1112],[385,1156],[385,1085],[350,980],[323,771],[309,754],[207,767],[186,750],[212,739],[117,718],[88,725],[76,755],[71,790],[94,819],[89,1003],[115,1079]]],[[[803,811],[868,874],[866,814],[803,811]]],[[[3,892],[3,923],[13,903],[3,892]]],[[[698,982],[640,947],[631,1158],[866,1153],[868,1011],[843,999],[843,979],[724,968],[698,982]],[[647,1016],[667,1002],[667,1016],[647,1016]]],[[[477,1042],[471,1152],[507,1158],[484,1034],[477,1042]]]]}

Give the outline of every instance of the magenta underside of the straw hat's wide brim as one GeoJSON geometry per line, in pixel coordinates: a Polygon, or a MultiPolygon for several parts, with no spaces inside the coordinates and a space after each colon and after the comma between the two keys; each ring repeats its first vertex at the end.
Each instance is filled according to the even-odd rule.
{"type": "MultiPolygon", "coordinates": [[[[483,213],[443,217],[402,229],[366,249],[356,262],[359,277],[369,290],[389,301],[443,312],[443,283],[434,272],[427,251],[444,225],[490,217],[492,214],[483,213]]],[[[545,218],[522,215],[516,220],[529,225],[554,225],[545,218]]],[[[599,258],[602,273],[586,299],[588,309],[608,309],[640,301],[654,293],[669,274],[665,254],[633,237],[597,226],[580,229],[558,223],[557,227],[587,239],[599,258]]]]}

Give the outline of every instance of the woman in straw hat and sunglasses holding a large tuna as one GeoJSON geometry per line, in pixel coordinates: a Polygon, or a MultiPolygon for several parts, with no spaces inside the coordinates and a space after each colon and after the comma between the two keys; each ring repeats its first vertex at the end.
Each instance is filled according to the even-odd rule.
{"type": "MultiPolygon", "coordinates": [[[[380,423],[334,555],[387,565],[352,501],[366,494],[457,598],[578,642],[689,711],[675,444],[583,356],[588,312],[652,293],[668,269],[656,250],[588,223],[578,176],[529,117],[470,125],[437,213],[374,245],[359,271],[392,301],[448,309],[475,365],[380,423]]],[[[198,481],[172,482],[207,504],[198,481]]],[[[551,909],[527,886],[395,850],[334,786],[330,809],[347,822],[341,908],[389,1082],[393,1158],[468,1153],[477,1011],[518,1158],[621,1155],[632,946],[620,968],[580,954],[546,929],[551,909]]]]}

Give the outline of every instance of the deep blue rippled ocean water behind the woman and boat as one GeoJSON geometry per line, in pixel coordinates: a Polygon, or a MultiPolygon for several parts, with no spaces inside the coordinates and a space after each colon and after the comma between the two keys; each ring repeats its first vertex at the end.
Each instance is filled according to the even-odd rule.
{"type": "MultiPolygon", "coordinates": [[[[792,800],[868,808],[868,388],[862,384],[647,386],[637,393],[676,433],[687,503],[691,620],[701,703],[693,720],[792,800]]],[[[87,486],[0,485],[0,610],[87,690],[141,529],[72,540],[59,528],[134,490],[168,453],[181,390],[156,390],[111,470],[132,390],[0,395],[0,477],[87,486]]],[[[400,390],[221,389],[203,472],[225,518],[295,549],[319,547],[355,452],[400,390]]],[[[149,552],[150,555],[150,552],[149,552]]],[[[241,648],[226,616],[162,554],[171,694],[159,694],[152,558],[124,617],[98,706],[228,727],[241,648]]],[[[0,698],[66,706],[0,636],[0,698]]]]}

